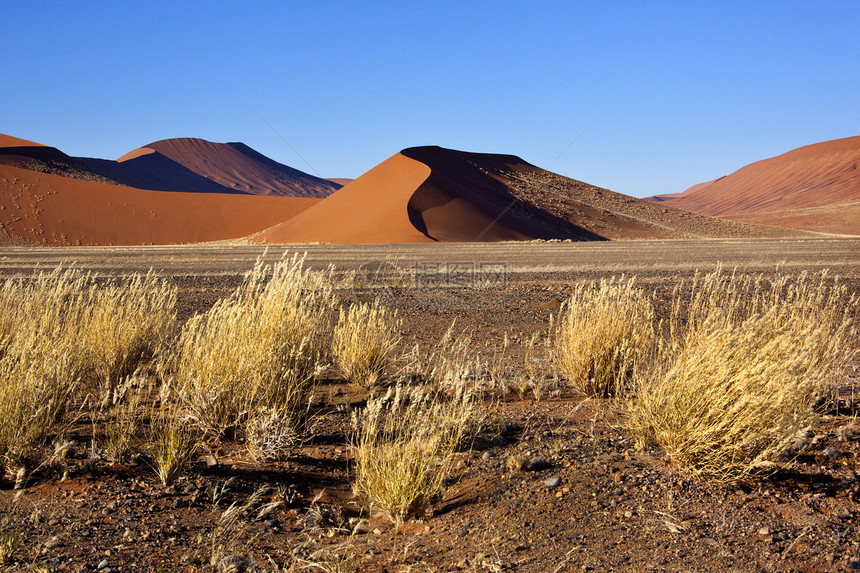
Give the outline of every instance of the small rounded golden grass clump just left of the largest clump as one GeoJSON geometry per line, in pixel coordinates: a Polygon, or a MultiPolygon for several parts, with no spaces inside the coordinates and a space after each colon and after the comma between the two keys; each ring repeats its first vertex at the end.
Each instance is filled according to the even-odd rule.
{"type": "Polygon", "coordinates": [[[587,396],[623,395],[651,343],[654,310],[633,283],[577,286],[550,326],[556,366],[587,396]]]}

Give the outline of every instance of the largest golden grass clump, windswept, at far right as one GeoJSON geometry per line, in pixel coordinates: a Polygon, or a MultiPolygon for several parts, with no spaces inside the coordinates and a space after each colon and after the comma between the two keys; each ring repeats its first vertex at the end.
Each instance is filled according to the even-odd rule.
{"type": "Polygon", "coordinates": [[[638,377],[629,428],[694,475],[765,471],[833,388],[857,302],[825,274],[697,277],[686,320],[676,303],[654,371],[638,377]]]}

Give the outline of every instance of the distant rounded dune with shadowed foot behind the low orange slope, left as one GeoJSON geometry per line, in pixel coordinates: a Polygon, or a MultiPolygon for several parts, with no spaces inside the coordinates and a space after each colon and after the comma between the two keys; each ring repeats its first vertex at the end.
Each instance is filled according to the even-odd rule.
{"type": "Polygon", "coordinates": [[[197,193],[327,197],[341,185],[269,159],[244,143],[163,139],[116,161],[85,160],[133,187],[197,193]]]}

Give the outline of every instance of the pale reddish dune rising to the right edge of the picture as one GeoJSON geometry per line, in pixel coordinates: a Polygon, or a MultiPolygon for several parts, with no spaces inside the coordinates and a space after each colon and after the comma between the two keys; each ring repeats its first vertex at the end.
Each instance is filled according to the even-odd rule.
{"type": "Polygon", "coordinates": [[[649,200],[739,222],[860,235],[860,136],[799,147],[649,200]]]}

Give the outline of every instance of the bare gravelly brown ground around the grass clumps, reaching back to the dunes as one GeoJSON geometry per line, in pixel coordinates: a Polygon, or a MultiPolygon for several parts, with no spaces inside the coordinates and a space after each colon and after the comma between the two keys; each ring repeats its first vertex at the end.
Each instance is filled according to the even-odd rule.
{"type": "MultiPolygon", "coordinates": [[[[428,245],[408,251],[317,246],[311,249],[310,263],[345,261],[347,268],[367,270],[385,263],[390,253],[403,272],[424,274],[423,287],[398,286],[395,281],[370,290],[343,288],[338,296],[344,301],[379,296],[383,304],[396,308],[404,319],[403,349],[417,344],[421,356],[454,320],[458,330],[471,333],[472,348],[486,359],[500,351],[507,333],[512,346],[506,363],[514,372],[524,370],[523,353],[532,334],[539,336],[538,351],[545,350],[549,315],[572,285],[610,274],[639,275],[642,288],[653,292],[661,316],[680,280],[717,261],[767,272],[775,269],[773,261],[792,273],[826,266],[841,274],[852,291],[860,289],[857,241],[622,246],[428,245]],[[506,272],[493,275],[492,263],[501,263],[506,272]]],[[[108,274],[155,267],[180,286],[185,319],[234,288],[240,280],[237,271],[249,268],[261,252],[247,247],[75,249],[64,255],[58,250],[12,249],[0,258],[0,274],[26,274],[34,265],[65,257],[108,274]]],[[[92,427],[81,420],[70,434],[75,445],[68,459],[37,472],[9,513],[21,542],[9,568],[46,564],[62,571],[100,565],[103,571],[214,570],[207,563],[218,545],[252,559],[262,570],[860,567],[860,435],[843,429],[858,411],[856,364],[843,381],[840,400],[829,404],[828,415],[798,442],[798,449],[788,452],[776,474],[732,484],[691,479],[660,451],[637,450],[612,403],[583,401],[564,390],[551,369],[542,374],[540,400],[530,392],[522,398],[516,393],[487,394],[488,432],[475,450],[458,456],[444,497],[432,511],[400,527],[379,517],[360,521],[367,509],[349,485],[344,407],[360,406],[366,393],[333,371],[321,376],[315,402],[320,417],[313,438],[288,460],[255,465],[242,444],[213,443],[209,452],[214,457],[207,461],[207,453],[201,452],[186,476],[170,488],[159,485],[145,457],[116,465],[91,456],[92,427]],[[542,456],[549,465],[512,474],[505,463],[512,455],[542,456]],[[68,477],[61,481],[66,471],[68,477]],[[560,478],[559,484],[548,487],[552,477],[560,478]],[[261,503],[282,503],[259,520],[255,512],[248,513],[240,529],[219,537],[224,510],[245,503],[261,487],[268,489],[254,510],[261,503]],[[309,517],[313,508],[315,518],[309,517]]],[[[11,485],[2,484],[4,508],[12,507],[16,494],[11,485]]]]}

